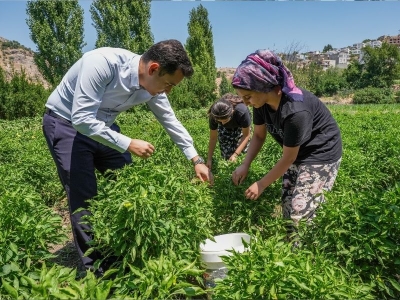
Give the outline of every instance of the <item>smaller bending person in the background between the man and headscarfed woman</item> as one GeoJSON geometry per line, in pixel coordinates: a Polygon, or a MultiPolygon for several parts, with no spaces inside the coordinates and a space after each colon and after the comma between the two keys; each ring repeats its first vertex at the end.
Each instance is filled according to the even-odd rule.
{"type": "Polygon", "coordinates": [[[229,161],[247,151],[250,140],[251,116],[242,99],[227,93],[208,110],[210,140],[207,166],[211,169],[217,138],[221,156],[229,161]]]}

